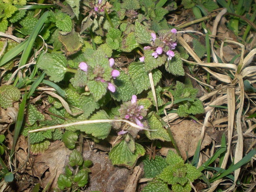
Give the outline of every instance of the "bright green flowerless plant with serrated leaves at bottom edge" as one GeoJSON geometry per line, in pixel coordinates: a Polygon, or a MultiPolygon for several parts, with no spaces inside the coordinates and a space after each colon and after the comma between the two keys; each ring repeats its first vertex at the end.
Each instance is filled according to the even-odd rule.
{"type": "Polygon", "coordinates": [[[149,159],[144,160],[144,171],[147,177],[153,176],[142,190],[142,192],[190,192],[190,182],[198,179],[201,172],[191,164],[185,164],[183,159],[175,152],[169,150],[165,159],[157,157],[150,162],[149,159]],[[152,168],[157,167],[157,175],[152,175],[152,168]],[[168,185],[171,185],[171,190],[168,185]]]}

